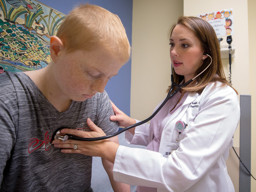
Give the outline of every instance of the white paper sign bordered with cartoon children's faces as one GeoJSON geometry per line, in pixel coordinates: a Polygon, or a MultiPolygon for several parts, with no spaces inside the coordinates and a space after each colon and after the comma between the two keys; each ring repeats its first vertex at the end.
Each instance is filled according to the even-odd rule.
{"type": "Polygon", "coordinates": [[[197,17],[208,21],[219,37],[234,35],[233,14],[233,9],[224,9],[216,12],[199,14],[197,17]]]}

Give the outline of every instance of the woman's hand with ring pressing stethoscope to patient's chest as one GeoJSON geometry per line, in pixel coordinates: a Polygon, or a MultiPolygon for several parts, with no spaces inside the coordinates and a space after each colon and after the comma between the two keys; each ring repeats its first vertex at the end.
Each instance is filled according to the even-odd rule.
{"type": "MultiPolygon", "coordinates": [[[[97,127],[89,118],[87,119],[87,125],[92,131],[86,132],[75,129],[62,129],[60,132],[84,138],[102,137],[106,135],[102,129],[97,127]]],[[[114,163],[116,151],[119,147],[118,144],[109,139],[100,141],[78,141],[68,139],[65,142],[56,139],[52,141],[52,144],[55,148],[63,148],[61,149],[62,153],[80,153],[88,156],[99,156],[107,159],[111,163],[114,163]],[[77,147],[76,149],[75,144],[77,147]]]]}

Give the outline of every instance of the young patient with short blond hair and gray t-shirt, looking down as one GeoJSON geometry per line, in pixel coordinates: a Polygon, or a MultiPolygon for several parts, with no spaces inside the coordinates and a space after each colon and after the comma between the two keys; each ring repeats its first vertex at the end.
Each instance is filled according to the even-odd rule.
{"type": "MultiPolygon", "coordinates": [[[[0,191],[93,191],[92,157],[61,153],[50,145],[52,133],[89,117],[106,134],[119,129],[109,120],[114,113],[104,91],[130,59],[119,17],[81,4],[51,37],[50,51],[43,69],[0,75],[0,191]]],[[[102,158],[102,164],[114,191],[130,191],[113,180],[112,163],[102,158]]]]}

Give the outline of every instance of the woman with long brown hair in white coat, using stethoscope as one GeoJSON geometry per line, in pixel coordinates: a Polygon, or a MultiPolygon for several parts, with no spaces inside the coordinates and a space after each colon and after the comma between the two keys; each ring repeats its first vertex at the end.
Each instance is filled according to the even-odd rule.
{"type": "MultiPolygon", "coordinates": [[[[234,192],[225,161],[233,145],[240,108],[237,92],[224,75],[217,36],[207,21],[181,16],[170,28],[169,37],[176,84],[202,72],[211,63],[209,56],[212,63],[168,100],[150,124],[125,132],[128,143],[144,145],[146,149],[119,146],[108,139],[54,140],[54,147],[64,148],[62,153],[107,159],[114,163],[114,179],[137,185],[137,192],[234,192]]],[[[121,126],[138,122],[114,104],[113,109],[115,116],[110,119],[121,126]]],[[[87,124],[93,132],[73,129],[61,132],[79,137],[105,135],[90,119],[87,124]]]]}

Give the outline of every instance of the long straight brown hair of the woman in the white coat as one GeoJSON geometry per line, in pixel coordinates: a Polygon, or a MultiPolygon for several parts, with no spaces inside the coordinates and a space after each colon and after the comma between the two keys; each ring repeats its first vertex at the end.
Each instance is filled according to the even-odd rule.
{"type": "MultiPolygon", "coordinates": [[[[176,25],[184,25],[189,28],[199,39],[203,47],[204,52],[212,57],[212,64],[207,68],[201,75],[196,77],[197,84],[193,87],[183,88],[187,92],[201,92],[203,89],[212,82],[221,82],[222,86],[229,85],[226,80],[225,72],[223,70],[221,58],[220,58],[220,46],[218,38],[212,26],[205,20],[198,17],[187,17],[180,16],[177,23],[174,23],[169,31],[168,36],[171,38],[172,31],[176,25]]],[[[207,57],[201,67],[196,70],[196,75],[203,71],[211,62],[211,58],[207,57]]],[[[172,68],[172,74],[174,83],[179,84],[184,76],[180,76],[175,73],[174,68],[172,68]]],[[[168,87],[167,91],[170,90],[168,87]]],[[[235,90],[235,89],[234,89],[235,90]]],[[[236,90],[235,90],[236,91],[236,90]]],[[[237,92],[236,92],[237,93],[237,92]]]]}

